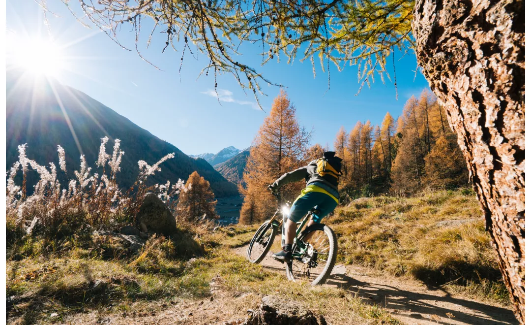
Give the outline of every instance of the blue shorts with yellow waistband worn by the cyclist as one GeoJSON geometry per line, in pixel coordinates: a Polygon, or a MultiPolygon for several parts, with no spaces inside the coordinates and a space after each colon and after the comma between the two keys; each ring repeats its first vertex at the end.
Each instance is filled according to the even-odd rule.
{"type": "Polygon", "coordinates": [[[321,222],[324,216],[330,214],[336,209],[337,202],[328,194],[320,192],[309,192],[299,196],[293,202],[292,209],[289,211],[289,220],[298,222],[308,211],[315,208],[319,210],[318,215],[313,215],[312,220],[316,223],[321,222]]]}

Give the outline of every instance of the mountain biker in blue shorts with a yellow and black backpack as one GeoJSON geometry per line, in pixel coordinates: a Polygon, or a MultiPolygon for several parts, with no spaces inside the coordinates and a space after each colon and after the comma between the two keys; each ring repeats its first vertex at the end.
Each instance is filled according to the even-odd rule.
{"type": "Polygon", "coordinates": [[[306,180],[306,187],[301,191],[301,195],[295,199],[289,211],[285,224],[285,245],[282,247],[282,251],[272,255],[273,258],[282,263],[291,261],[297,222],[311,209],[316,209],[319,213],[313,216],[307,227],[313,223],[319,223],[324,216],[336,209],[339,203],[339,176],[341,176],[341,158],[336,157],[335,152],[328,151],[324,153],[322,158],[285,173],[269,186],[271,192],[276,194],[280,187],[288,183],[301,179],[306,180]]]}

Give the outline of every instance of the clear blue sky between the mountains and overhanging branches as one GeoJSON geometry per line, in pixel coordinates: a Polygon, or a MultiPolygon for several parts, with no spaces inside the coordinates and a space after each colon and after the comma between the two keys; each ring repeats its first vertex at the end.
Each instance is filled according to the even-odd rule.
{"type": "MultiPolygon", "coordinates": [[[[68,70],[57,74],[56,78],[187,154],[216,153],[230,145],[240,149],[248,147],[279,92],[278,87],[262,85],[268,95],[260,98],[263,112],[256,109],[252,93],[246,97],[232,76],[221,76],[218,77],[218,91],[225,102],[220,105],[211,96],[213,76],[197,78],[207,63],[204,56],[195,60],[186,55],[179,81],[181,54],[173,49],[161,53],[166,41],[164,35],[155,33],[150,48],[145,49],[145,45],[140,48],[148,60],[164,70],[159,71],[135,52],[117,46],[97,28],[83,27],[61,1],[48,3],[58,15],[48,15],[51,35],[56,44],[64,47],[62,52],[67,57],[64,64],[68,70]]],[[[78,2],[72,2],[72,6],[78,6],[78,2]]],[[[6,9],[8,37],[47,37],[42,10],[35,2],[8,0],[6,9]]],[[[133,33],[125,29],[119,37],[129,46],[133,33]]],[[[313,127],[312,142],[328,143],[331,147],[341,126],[350,130],[358,120],[380,124],[388,111],[398,117],[407,99],[418,96],[428,87],[420,72],[415,78],[413,51],[396,62],[398,100],[393,82],[387,80],[383,85],[379,78],[370,89],[364,87],[355,96],[359,88],[357,66],[347,67],[342,72],[331,66],[331,89],[327,91],[327,73],[316,69],[313,78],[309,61],[288,65],[286,57],[281,57],[280,63],[260,66],[258,51],[250,48],[246,52],[249,54],[243,59],[247,64],[263,72],[269,80],[287,87],[297,107],[300,124],[307,129],[313,127]]]]}

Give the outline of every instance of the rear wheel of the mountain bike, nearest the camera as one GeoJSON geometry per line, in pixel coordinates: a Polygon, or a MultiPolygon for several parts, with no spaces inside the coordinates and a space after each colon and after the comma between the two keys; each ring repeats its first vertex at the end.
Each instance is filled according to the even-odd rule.
{"type": "Polygon", "coordinates": [[[297,237],[293,259],[286,265],[289,280],[321,285],[332,272],[337,257],[337,237],[330,227],[314,223],[297,237]]]}

